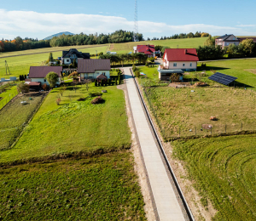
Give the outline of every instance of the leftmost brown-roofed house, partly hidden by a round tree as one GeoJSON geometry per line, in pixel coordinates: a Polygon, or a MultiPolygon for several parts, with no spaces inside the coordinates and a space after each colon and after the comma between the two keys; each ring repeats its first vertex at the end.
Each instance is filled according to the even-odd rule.
{"type": "Polygon", "coordinates": [[[46,83],[49,85],[49,82],[46,80],[46,76],[49,72],[55,72],[59,76],[57,85],[61,84],[61,73],[62,66],[31,66],[29,70],[28,77],[31,79],[31,82],[40,82],[42,85],[46,83]]]}

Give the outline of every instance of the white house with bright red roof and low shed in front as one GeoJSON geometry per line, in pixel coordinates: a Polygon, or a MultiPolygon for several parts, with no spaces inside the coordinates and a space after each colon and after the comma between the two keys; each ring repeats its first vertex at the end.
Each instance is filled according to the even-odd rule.
{"type": "Polygon", "coordinates": [[[158,70],[159,78],[170,80],[172,74],[178,74],[182,81],[184,71],[196,71],[198,61],[195,48],[168,48],[163,56],[163,65],[158,70]]]}

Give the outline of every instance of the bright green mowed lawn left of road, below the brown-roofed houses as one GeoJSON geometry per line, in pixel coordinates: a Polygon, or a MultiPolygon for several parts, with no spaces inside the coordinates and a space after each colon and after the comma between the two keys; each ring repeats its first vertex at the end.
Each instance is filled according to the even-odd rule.
{"type": "Polygon", "coordinates": [[[89,92],[85,86],[77,91],[73,87],[67,88],[61,97],[61,104],[56,105],[55,100],[59,96],[58,88],[49,93],[19,142],[13,149],[1,153],[0,163],[74,152],[90,155],[98,150],[108,152],[130,148],[131,132],[122,90],[116,86],[95,87],[92,83],[89,92]],[[77,101],[102,89],[108,90],[102,95],[104,104],[92,105],[92,98],[77,101]]]}

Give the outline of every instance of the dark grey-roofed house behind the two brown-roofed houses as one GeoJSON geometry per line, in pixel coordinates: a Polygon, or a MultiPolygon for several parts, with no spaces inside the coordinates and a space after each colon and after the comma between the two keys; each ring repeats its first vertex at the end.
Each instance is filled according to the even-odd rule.
{"type": "Polygon", "coordinates": [[[62,51],[61,64],[73,64],[73,60],[78,64],[79,59],[90,59],[90,53],[79,52],[76,48],[71,48],[69,51],[62,51]]]}

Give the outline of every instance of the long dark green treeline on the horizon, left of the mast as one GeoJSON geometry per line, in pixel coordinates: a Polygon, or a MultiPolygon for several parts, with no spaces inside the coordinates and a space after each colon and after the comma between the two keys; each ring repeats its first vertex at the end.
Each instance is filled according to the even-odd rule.
{"type": "MultiPolygon", "coordinates": [[[[72,45],[91,45],[104,43],[120,43],[132,42],[133,31],[114,31],[108,35],[95,34],[86,35],[83,32],[79,35],[61,35],[60,37],[53,37],[49,44],[51,47],[72,46],[72,45]]],[[[143,41],[143,34],[138,35],[139,41],[143,41]]]]}

